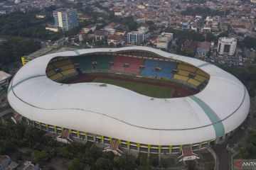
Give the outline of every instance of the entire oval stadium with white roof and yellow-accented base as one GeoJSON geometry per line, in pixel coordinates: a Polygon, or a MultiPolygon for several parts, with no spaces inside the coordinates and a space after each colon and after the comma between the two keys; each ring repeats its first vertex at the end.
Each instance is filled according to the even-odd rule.
{"type": "Polygon", "coordinates": [[[41,130],[164,154],[218,144],[250,108],[245,86],[215,65],[137,46],[38,57],[14,75],[8,100],[41,130]]]}

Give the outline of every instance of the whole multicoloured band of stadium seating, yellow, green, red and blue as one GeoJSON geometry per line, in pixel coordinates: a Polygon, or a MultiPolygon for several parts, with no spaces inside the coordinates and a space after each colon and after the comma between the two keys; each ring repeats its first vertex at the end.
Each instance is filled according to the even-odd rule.
{"type": "Polygon", "coordinates": [[[95,69],[142,74],[149,77],[161,77],[185,81],[193,86],[199,86],[209,79],[209,75],[206,74],[206,72],[188,64],[111,55],[83,55],[50,62],[46,69],[46,74],[53,80],[76,74],[74,64],[79,64],[82,71],[95,69]],[[93,66],[93,62],[97,62],[97,64],[93,66]],[[113,64],[111,64],[111,62],[113,62],[113,64]],[[125,66],[125,64],[127,64],[127,66],[125,66]],[[143,69],[140,68],[142,65],[144,65],[143,69]],[[175,74],[173,73],[174,69],[178,70],[175,74]]]}

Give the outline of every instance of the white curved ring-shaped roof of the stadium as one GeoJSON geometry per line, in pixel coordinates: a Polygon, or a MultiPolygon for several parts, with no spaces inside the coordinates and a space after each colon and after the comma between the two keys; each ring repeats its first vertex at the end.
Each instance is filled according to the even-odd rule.
{"type": "Polygon", "coordinates": [[[215,140],[238,128],[250,108],[245,86],[215,65],[137,46],[38,57],[14,76],[8,99],[18,113],[31,120],[149,145],[215,140]],[[193,64],[207,72],[210,80],[203,91],[193,96],[151,98],[110,84],[60,84],[46,76],[46,67],[53,57],[122,50],[144,50],[193,64]]]}

